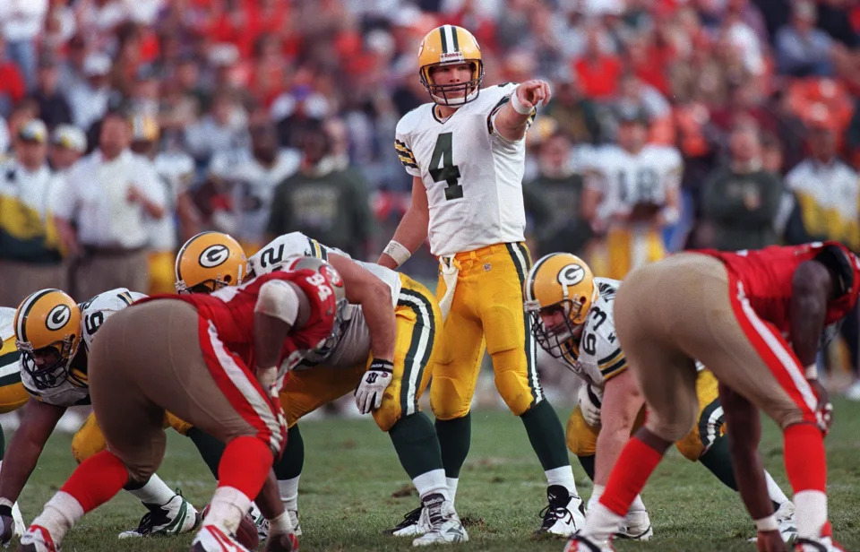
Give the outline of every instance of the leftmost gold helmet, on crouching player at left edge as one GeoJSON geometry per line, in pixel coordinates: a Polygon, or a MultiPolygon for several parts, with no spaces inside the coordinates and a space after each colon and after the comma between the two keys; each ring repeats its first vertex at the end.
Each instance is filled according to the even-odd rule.
{"type": "Polygon", "coordinates": [[[73,298],[59,289],[30,294],[15,311],[14,328],[23,369],[38,389],[74,377],[69,367],[81,343],[81,308],[73,298]]]}

